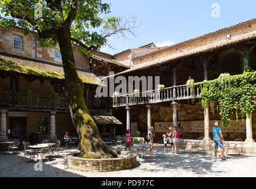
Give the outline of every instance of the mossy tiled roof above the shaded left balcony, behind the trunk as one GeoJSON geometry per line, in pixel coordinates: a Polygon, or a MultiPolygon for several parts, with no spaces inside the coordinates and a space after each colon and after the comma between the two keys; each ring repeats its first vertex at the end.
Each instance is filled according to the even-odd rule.
{"type": "MultiPolygon", "coordinates": [[[[0,53],[0,70],[64,79],[64,72],[61,64],[48,63],[46,61],[15,56],[7,53],[0,53]]],[[[77,74],[80,79],[82,79],[83,83],[101,84],[99,78],[89,71],[77,69],[77,74]]]]}

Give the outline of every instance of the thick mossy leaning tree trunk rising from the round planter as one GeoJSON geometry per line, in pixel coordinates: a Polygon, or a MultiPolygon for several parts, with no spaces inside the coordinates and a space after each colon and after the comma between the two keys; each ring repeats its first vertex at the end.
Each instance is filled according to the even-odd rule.
{"type": "Polygon", "coordinates": [[[78,77],[71,44],[71,34],[66,28],[57,31],[57,40],[65,74],[66,97],[69,102],[73,125],[79,135],[83,158],[117,157],[101,138],[99,130],[90,116],[83,97],[83,82],[78,77]]]}

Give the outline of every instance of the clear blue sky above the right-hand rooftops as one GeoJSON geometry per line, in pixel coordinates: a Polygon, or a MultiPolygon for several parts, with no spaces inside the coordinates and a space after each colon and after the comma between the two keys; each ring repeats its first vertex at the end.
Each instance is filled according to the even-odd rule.
{"type": "Polygon", "coordinates": [[[176,44],[208,32],[256,18],[255,0],[105,0],[111,15],[137,17],[137,37],[108,38],[101,51],[115,54],[153,41],[158,46],[176,44]],[[212,4],[219,4],[220,17],[212,17],[212,4]]]}

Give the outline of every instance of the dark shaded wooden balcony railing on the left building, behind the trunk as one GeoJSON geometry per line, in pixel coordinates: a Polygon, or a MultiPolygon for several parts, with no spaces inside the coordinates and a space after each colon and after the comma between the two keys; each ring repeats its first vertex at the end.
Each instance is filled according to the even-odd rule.
{"type": "MultiPolygon", "coordinates": [[[[101,100],[95,104],[95,100],[85,100],[88,109],[108,109],[108,103],[101,100]]],[[[2,93],[0,94],[0,105],[8,107],[24,107],[31,109],[59,109],[69,110],[66,98],[58,97],[57,99],[50,96],[34,95],[31,99],[27,99],[24,94],[18,93],[2,93]]]]}

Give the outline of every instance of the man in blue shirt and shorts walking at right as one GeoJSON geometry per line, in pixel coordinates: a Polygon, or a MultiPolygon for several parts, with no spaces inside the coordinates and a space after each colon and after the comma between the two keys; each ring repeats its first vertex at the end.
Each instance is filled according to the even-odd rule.
{"type": "Polygon", "coordinates": [[[224,145],[225,141],[223,139],[223,135],[221,133],[221,128],[219,128],[219,123],[215,122],[214,123],[214,128],[212,128],[212,134],[213,134],[213,141],[214,141],[214,146],[215,146],[215,157],[217,157],[217,152],[218,152],[218,146],[221,147],[221,159],[222,160],[226,160],[226,158],[224,157],[224,145]],[[222,139],[222,140],[221,140],[222,139]]]}

